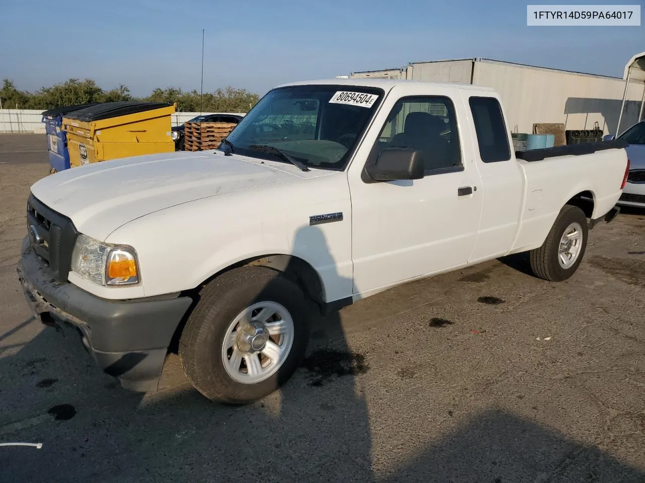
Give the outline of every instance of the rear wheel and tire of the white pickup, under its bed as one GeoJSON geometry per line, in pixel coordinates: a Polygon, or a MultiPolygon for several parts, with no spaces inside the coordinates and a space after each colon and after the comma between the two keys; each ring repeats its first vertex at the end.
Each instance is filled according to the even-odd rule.
{"type": "Polygon", "coordinates": [[[570,278],[586,251],[587,234],[584,212],[577,206],[565,205],[542,246],[529,252],[533,274],[549,281],[570,278]]]}

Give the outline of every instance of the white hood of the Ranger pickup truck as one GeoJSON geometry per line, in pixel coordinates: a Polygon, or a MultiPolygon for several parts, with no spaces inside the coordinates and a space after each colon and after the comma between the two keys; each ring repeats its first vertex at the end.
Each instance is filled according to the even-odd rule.
{"type": "Polygon", "coordinates": [[[136,218],[208,196],[332,173],[216,151],[122,158],[60,171],[32,185],[36,198],[97,240],[136,218]]]}

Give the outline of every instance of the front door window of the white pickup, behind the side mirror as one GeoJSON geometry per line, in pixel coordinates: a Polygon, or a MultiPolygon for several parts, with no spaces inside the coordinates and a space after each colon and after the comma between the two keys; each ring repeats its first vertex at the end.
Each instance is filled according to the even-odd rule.
{"type": "Polygon", "coordinates": [[[462,167],[452,101],[447,97],[408,97],[399,100],[390,112],[375,147],[376,156],[388,147],[421,150],[426,175],[462,167]]]}

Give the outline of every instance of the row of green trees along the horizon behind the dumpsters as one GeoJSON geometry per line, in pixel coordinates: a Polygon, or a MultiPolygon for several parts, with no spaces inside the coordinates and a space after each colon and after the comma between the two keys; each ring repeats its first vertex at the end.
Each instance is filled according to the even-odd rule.
{"type": "Polygon", "coordinates": [[[86,102],[114,102],[118,100],[143,100],[151,102],[176,102],[177,111],[184,112],[248,112],[259,100],[259,96],[245,89],[226,87],[205,92],[200,103],[197,90],[184,91],[181,88],[156,88],[148,97],[134,97],[128,86],[105,91],[92,79],[70,79],[35,92],[22,91],[10,79],[3,80],[0,102],[4,109],[54,109],[74,106],[86,102]],[[201,108],[200,108],[201,104],[201,108]]]}

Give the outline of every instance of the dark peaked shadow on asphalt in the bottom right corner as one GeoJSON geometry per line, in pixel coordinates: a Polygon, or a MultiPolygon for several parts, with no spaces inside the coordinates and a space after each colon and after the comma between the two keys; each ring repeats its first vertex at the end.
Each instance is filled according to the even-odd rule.
{"type": "Polygon", "coordinates": [[[387,483],[642,482],[645,473],[559,431],[496,408],[470,415],[387,483]]]}

